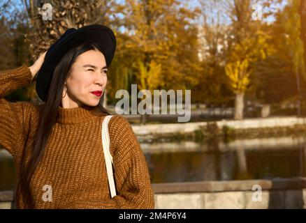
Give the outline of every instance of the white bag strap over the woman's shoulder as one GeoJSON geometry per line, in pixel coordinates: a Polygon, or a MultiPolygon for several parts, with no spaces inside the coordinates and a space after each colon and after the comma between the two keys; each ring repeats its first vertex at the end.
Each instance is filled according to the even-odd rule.
{"type": "Polygon", "coordinates": [[[108,132],[108,123],[112,116],[105,116],[102,124],[102,144],[105,157],[106,171],[108,173],[108,185],[110,186],[110,197],[116,196],[116,187],[114,176],[112,174],[112,155],[110,155],[110,134],[108,132]]]}

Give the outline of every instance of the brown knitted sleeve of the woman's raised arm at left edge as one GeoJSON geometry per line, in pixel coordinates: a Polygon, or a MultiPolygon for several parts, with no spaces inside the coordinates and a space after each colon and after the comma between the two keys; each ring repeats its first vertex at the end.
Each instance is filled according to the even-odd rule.
{"type": "Polygon", "coordinates": [[[31,82],[31,70],[20,66],[0,72],[0,144],[14,157],[23,146],[24,113],[29,110],[29,102],[8,102],[3,96],[31,82]]]}

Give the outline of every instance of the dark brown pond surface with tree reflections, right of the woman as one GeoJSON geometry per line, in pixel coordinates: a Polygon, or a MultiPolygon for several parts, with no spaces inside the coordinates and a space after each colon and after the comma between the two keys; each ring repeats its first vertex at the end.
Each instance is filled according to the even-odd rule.
{"type": "MultiPolygon", "coordinates": [[[[305,176],[296,148],[263,151],[146,153],[152,183],[305,176]]],[[[303,165],[305,169],[305,165],[303,165]]]]}

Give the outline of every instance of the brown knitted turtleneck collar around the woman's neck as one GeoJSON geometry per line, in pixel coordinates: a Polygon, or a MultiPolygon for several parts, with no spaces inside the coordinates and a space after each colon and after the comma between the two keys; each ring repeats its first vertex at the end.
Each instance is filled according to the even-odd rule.
{"type": "Polygon", "coordinates": [[[87,105],[68,109],[59,107],[59,116],[57,122],[63,124],[73,124],[89,121],[94,118],[94,114],[92,114],[92,108],[93,107],[89,107],[87,105]]]}

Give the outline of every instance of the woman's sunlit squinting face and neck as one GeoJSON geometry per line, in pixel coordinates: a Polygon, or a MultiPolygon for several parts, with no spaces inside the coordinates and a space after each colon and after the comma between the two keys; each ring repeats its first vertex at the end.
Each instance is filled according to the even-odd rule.
{"type": "Polygon", "coordinates": [[[63,108],[96,106],[104,93],[108,77],[105,57],[99,50],[89,50],[80,54],[71,66],[66,79],[61,105],[63,108]],[[93,91],[102,91],[95,95],[93,91]]]}

